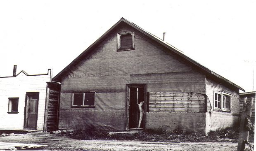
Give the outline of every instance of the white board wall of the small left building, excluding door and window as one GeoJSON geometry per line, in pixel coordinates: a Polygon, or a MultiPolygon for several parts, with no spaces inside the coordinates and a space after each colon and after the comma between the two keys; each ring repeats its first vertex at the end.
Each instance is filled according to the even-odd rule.
{"type": "Polygon", "coordinates": [[[34,76],[21,72],[16,77],[0,77],[0,129],[24,129],[26,92],[39,92],[37,130],[43,130],[46,82],[50,81],[50,72],[34,76]],[[8,98],[19,98],[19,113],[7,113],[8,98]]]}

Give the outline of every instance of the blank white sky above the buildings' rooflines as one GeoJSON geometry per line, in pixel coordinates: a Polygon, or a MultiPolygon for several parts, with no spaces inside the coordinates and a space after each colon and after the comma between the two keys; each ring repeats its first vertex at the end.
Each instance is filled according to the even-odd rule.
{"type": "Polygon", "coordinates": [[[0,76],[13,65],[55,76],[121,17],[157,37],[166,32],[169,44],[252,91],[254,0],[1,0],[0,76]]]}

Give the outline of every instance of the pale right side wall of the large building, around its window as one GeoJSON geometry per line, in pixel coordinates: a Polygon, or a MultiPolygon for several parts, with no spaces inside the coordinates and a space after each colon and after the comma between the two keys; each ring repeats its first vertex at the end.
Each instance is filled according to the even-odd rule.
{"type": "Polygon", "coordinates": [[[206,132],[237,124],[239,120],[239,90],[235,90],[206,78],[206,95],[211,102],[211,112],[206,114],[206,132]],[[229,93],[230,112],[214,111],[214,92],[229,93]]]}

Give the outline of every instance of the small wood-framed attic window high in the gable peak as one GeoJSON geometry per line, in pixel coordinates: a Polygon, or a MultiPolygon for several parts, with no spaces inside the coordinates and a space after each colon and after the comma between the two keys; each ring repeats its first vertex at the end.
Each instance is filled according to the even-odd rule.
{"type": "Polygon", "coordinates": [[[134,50],[134,32],[117,33],[117,51],[134,50]]]}

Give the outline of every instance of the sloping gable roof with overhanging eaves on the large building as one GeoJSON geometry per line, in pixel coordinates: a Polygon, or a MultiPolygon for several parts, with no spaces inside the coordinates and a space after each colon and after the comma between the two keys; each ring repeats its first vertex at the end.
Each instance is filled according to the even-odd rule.
{"type": "Polygon", "coordinates": [[[136,30],[140,31],[141,33],[143,33],[144,35],[146,35],[147,37],[153,39],[155,42],[161,44],[162,46],[166,47],[169,51],[175,53],[176,55],[180,56],[181,58],[184,58],[185,60],[187,60],[189,63],[191,63],[192,65],[195,65],[196,67],[198,67],[199,69],[203,70],[207,75],[209,75],[210,77],[216,78],[220,81],[223,81],[224,83],[230,84],[232,86],[234,86],[235,88],[238,88],[242,91],[245,92],[245,90],[243,88],[241,88],[240,86],[237,86],[236,84],[234,84],[233,82],[229,81],[228,79],[225,79],[224,77],[220,76],[219,74],[209,70],[208,68],[204,67],[203,65],[201,65],[200,63],[197,63],[196,61],[194,61],[193,59],[189,58],[188,56],[186,56],[183,51],[180,51],[179,49],[175,48],[174,46],[172,46],[171,44],[168,44],[167,42],[164,42],[162,39],[160,39],[159,37],[156,37],[155,35],[147,32],[146,30],[140,28],[139,26],[137,26],[135,23],[130,22],[124,18],[121,18],[116,24],[114,24],[114,26],[112,26],[109,30],[107,30],[106,33],[104,33],[99,39],[97,39],[94,43],[92,43],[87,49],[85,49],[85,51],[83,51],[78,57],[76,57],[68,66],[66,66],[61,72],[59,72],[54,78],[53,81],[60,81],[60,79],[62,78],[62,76],[66,73],[66,71],[69,70],[69,68],[71,68],[73,65],[76,65],[76,63],[80,62],[81,59],[83,58],[83,56],[85,56],[86,54],[88,54],[88,52],[95,48],[95,46],[97,46],[98,44],[100,44],[106,37],[107,35],[109,35],[109,33],[111,33],[112,30],[114,30],[114,28],[116,28],[120,23],[126,23],[129,26],[135,28],[136,30]]]}

